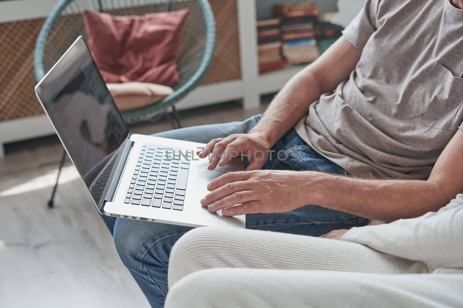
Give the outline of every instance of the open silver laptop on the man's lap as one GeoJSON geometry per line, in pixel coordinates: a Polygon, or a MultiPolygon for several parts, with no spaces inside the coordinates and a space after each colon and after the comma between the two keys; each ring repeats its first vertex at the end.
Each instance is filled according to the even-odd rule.
{"type": "Polygon", "coordinates": [[[200,205],[207,183],[244,169],[208,170],[204,144],[131,134],[81,36],[35,87],[38,100],[101,214],[185,226],[244,228],[245,217],[200,205]]]}

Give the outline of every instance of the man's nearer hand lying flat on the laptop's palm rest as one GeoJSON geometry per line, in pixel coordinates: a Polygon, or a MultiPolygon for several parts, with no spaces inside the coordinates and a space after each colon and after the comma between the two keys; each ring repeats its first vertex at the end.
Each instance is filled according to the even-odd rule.
{"type": "Polygon", "coordinates": [[[201,205],[211,212],[222,210],[225,216],[292,211],[306,205],[311,195],[305,171],[230,172],[211,181],[207,189],[211,193],[201,205]]]}

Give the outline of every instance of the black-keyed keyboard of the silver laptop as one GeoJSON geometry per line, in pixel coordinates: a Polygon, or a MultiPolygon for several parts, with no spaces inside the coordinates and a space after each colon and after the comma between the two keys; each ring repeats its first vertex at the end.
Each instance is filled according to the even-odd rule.
{"type": "Polygon", "coordinates": [[[124,203],[182,211],[192,154],[144,143],[124,203]]]}

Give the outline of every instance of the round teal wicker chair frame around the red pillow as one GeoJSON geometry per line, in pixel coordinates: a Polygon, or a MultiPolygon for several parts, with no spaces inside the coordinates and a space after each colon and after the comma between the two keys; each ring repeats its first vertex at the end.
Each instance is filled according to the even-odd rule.
{"type": "Polygon", "coordinates": [[[34,71],[38,80],[81,35],[87,39],[82,12],[85,9],[113,15],[143,15],[189,9],[183,30],[177,70],[180,82],[174,93],[151,105],[122,112],[126,123],[152,119],[173,109],[177,125],[180,117],[174,104],[196,88],[205,77],[215,48],[215,23],[207,0],[61,0],[53,8],[39,32],[34,52],[34,71]]]}

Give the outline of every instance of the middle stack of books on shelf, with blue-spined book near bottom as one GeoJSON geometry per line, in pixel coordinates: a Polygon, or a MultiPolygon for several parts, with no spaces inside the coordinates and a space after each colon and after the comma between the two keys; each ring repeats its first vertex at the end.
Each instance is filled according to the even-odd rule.
{"type": "Polygon", "coordinates": [[[291,64],[307,63],[319,57],[315,24],[318,10],[314,4],[275,5],[273,11],[282,18],[283,55],[291,64]]]}

